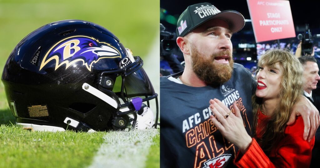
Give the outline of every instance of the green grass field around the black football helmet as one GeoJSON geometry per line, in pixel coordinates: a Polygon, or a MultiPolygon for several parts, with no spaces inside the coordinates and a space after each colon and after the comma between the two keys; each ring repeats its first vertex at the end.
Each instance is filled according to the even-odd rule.
{"type": "MultiPolygon", "coordinates": [[[[158,67],[159,52],[151,53],[155,61],[148,57],[155,41],[159,41],[159,4],[159,0],[0,0],[0,72],[2,74],[5,61],[23,37],[47,23],[68,19],[87,20],[107,28],[125,47],[130,48],[134,55],[150,60],[145,61],[145,64],[158,67]]],[[[159,76],[158,70],[147,73],[150,78],[155,76],[157,79],[159,76]]],[[[151,81],[153,82],[152,78],[151,81]]],[[[106,137],[113,133],[22,130],[15,126],[15,118],[8,108],[2,83],[0,125],[0,167],[88,167],[97,162],[94,158],[101,150],[100,147],[109,143],[106,137]]],[[[125,132],[123,134],[124,137],[130,135],[125,132]]],[[[159,130],[156,130],[151,147],[144,154],[145,163],[132,166],[160,167],[159,141],[159,130]]],[[[120,145],[114,148],[120,148],[120,145]]],[[[114,155],[120,159],[124,157],[124,154],[114,155]]]]}

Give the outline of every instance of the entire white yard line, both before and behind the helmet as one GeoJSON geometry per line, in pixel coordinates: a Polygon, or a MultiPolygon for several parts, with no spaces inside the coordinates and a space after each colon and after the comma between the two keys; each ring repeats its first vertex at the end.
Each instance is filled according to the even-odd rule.
{"type": "MultiPolygon", "coordinates": [[[[160,33],[156,33],[156,39],[148,55],[144,57],[143,68],[155,92],[160,95],[160,33]]],[[[159,97],[158,100],[160,100],[159,97]]],[[[150,106],[156,115],[155,102],[151,100],[150,106]]],[[[144,168],[152,138],[157,133],[156,129],[108,132],[104,137],[105,143],[100,146],[89,168],[144,168]]]]}

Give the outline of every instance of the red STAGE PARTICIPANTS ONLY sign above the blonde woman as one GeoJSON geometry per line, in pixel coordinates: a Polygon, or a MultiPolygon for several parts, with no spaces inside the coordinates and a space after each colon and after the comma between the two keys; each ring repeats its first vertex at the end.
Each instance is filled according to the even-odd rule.
{"type": "Polygon", "coordinates": [[[256,42],[295,37],[290,3],[286,0],[247,0],[256,42]]]}

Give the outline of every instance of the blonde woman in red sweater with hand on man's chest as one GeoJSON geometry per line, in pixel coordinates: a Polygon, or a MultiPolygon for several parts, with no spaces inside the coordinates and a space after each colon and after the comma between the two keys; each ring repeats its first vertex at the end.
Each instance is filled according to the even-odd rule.
{"type": "Polygon", "coordinates": [[[292,107],[302,94],[303,69],[299,60],[284,50],[269,50],[261,56],[257,90],[252,96],[254,138],[245,131],[239,109],[233,114],[221,101],[210,100],[211,120],[223,136],[240,150],[238,167],[306,167],[314,138],[303,139],[301,116],[287,125],[292,107]],[[219,122],[219,121],[220,122],[219,122]]]}

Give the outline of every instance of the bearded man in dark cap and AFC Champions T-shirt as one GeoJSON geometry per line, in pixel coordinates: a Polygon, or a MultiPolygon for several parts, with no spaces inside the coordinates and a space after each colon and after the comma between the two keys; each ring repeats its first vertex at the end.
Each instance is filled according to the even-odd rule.
{"type": "MultiPolygon", "coordinates": [[[[177,44],[184,71],[160,79],[160,166],[232,167],[238,148],[224,139],[210,120],[209,100],[217,98],[241,110],[248,133],[252,128],[251,95],[256,81],[232,59],[231,36],[244,27],[236,11],[222,11],[209,3],[194,4],[180,15],[177,44]]],[[[305,121],[305,140],[319,125],[319,112],[301,95],[292,111],[305,121]],[[308,124],[309,123],[309,124],[308,124]]]]}

